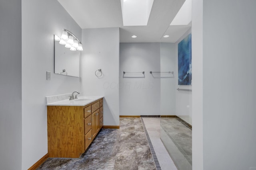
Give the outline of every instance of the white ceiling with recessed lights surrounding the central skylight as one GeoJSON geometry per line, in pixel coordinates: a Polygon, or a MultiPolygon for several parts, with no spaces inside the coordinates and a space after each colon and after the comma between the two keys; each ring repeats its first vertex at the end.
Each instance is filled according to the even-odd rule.
{"type": "Polygon", "coordinates": [[[58,0],[82,29],[120,27],[121,43],[176,42],[191,26],[170,25],[184,1],[154,0],[148,25],[123,26],[120,0],[58,0]],[[166,29],[170,37],[161,40],[166,29]]]}

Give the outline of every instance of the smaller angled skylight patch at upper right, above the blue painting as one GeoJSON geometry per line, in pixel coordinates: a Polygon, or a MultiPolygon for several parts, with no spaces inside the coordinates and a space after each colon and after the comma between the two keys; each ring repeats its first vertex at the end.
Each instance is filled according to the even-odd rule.
{"type": "Polygon", "coordinates": [[[192,15],[192,0],[186,0],[170,25],[188,25],[192,15]]]}

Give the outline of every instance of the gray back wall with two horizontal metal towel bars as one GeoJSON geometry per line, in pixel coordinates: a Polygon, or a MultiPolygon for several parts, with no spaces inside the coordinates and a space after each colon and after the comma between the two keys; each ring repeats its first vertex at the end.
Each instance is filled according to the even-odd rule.
{"type": "Polygon", "coordinates": [[[120,115],[176,115],[175,63],[174,43],[120,43],[120,115]]]}

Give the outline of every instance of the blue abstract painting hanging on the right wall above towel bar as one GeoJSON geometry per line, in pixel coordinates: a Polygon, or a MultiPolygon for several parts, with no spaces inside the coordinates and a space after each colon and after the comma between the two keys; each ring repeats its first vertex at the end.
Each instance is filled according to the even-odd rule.
{"type": "Polygon", "coordinates": [[[192,80],[191,34],[178,43],[178,85],[191,85],[192,80]]]}

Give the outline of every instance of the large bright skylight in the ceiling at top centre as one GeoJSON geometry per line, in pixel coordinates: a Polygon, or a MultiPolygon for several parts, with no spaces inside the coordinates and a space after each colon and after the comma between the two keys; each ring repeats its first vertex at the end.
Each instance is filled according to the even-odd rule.
{"type": "Polygon", "coordinates": [[[148,24],[154,0],[120,0],[124,26],[148,24]]]}

